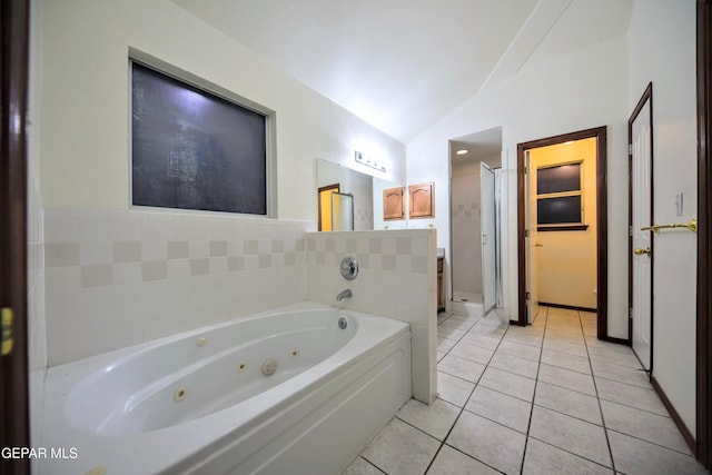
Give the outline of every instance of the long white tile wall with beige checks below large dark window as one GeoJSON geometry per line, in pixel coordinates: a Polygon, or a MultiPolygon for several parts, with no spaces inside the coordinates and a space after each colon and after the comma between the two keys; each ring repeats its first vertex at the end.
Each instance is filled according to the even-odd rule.
{"type": "Polygon", "coordinates": [[[306,298],[310,222],[56,208],[43,222],[49,366],[306,298]]]}

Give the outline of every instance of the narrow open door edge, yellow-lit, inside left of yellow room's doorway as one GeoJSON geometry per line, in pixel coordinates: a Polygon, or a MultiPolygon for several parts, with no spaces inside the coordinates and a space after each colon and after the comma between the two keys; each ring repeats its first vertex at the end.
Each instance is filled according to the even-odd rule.
{"type": "Polygon", "coordinates": [[[526,230],[524,248],[526,249],[526,323],[534,321],[538,314],[538,263],[537,263],[537,234],[536,234],[536,161],[530,150],[525,151],[526,160],[526,230]]]}

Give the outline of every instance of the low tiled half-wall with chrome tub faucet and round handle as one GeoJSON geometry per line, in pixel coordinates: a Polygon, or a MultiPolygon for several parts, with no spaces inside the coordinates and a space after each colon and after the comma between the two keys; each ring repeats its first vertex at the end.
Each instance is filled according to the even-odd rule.
{"type": "Polygon", "coordinates": [[[435,229],[308,232],[309,300],[396,318],[411,324],[413,395],[437,394],[437,269],[435,229]],[[356,257],[358,277],[346,280],[339,263],[356,257]],[[352,298],[336,300],[350,289],[352,298]]]}

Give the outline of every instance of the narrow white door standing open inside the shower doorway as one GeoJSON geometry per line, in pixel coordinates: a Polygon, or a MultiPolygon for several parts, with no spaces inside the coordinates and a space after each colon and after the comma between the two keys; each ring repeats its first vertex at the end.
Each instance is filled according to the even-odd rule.
{"type": "Polygon", "coordinates": [[[494,171],[479,164],[479,221],[482,229],[482,309],[487,315],[496,300],[496,236],[494,171]]]}

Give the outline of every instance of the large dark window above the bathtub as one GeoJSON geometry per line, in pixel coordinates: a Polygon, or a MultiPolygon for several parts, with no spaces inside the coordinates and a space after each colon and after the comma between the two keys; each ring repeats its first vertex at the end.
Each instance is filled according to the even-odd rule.
{"type": "Polygon", "coordinates": [[[268,214],[267,116],[131,61],[132,204],[268,214]]]}

